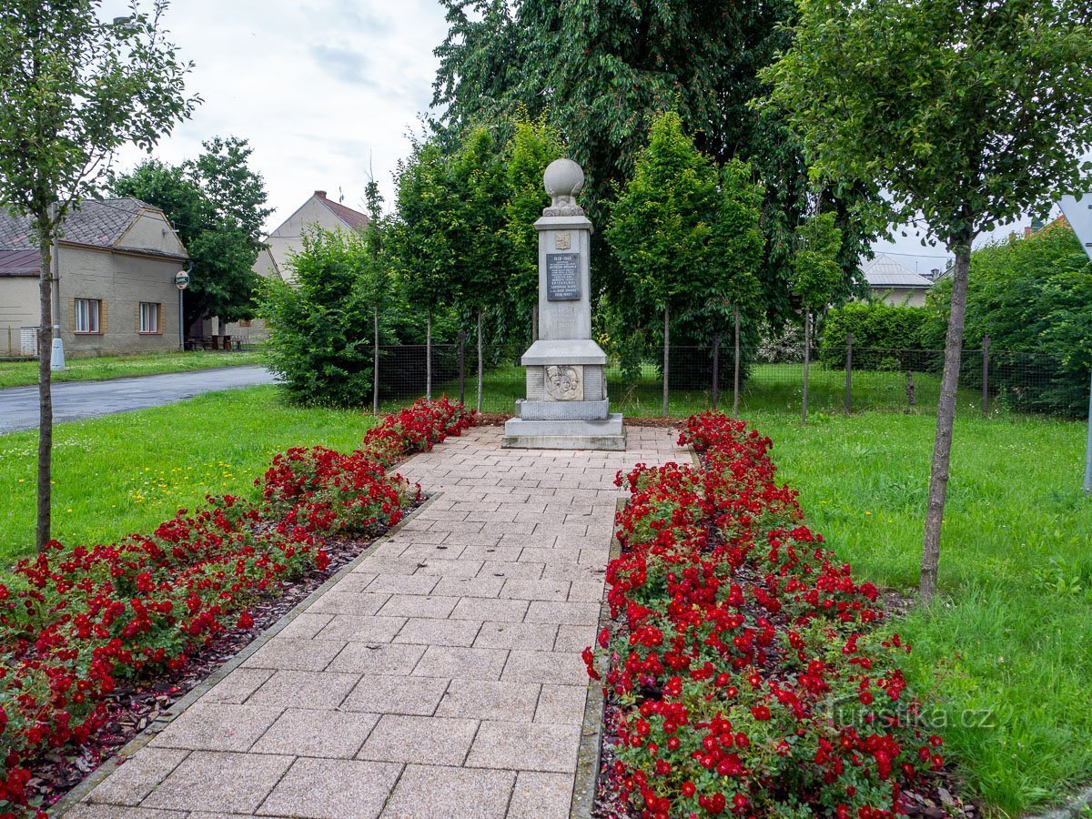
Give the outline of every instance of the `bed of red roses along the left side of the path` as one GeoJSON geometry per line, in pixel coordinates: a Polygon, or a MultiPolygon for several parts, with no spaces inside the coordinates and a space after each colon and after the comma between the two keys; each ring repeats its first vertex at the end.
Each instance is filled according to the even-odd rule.
{"type": "Polygon", "coordinates": [[[149,535],[97,546],[57,542],[0,583],[0,817],[27,810],[29,765],[79,746],[120,680],[178,669],[259,600],[329,562],[323,538],[378,533],[419,496],[387,467],[459,435],[474,418],[418,401],[341,454],[293,449],[256,482],[259,502],[209,497],[149,535]]]}

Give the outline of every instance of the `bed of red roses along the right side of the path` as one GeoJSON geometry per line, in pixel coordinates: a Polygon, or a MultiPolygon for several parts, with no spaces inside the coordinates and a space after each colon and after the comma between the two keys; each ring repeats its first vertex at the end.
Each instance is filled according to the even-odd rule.
{"type": "MultiPolygon", "coordinates": [[[[639,465],[607,567],[605,680],[618,709],[604,773],[642,817],[889,817],[937,771],[898,634],[779,487],[771,442],[688,419],[695,468],[639,465]]],[[[594,655],[584,652],[598,679],[594,655]]]]}

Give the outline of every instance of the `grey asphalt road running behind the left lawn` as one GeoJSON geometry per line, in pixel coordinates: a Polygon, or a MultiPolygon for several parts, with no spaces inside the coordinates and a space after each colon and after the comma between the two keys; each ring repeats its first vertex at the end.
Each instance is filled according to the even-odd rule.
{"type": "MultiPolygon", "coordinates": [[[[197,372],[116,378],[110,381],[64,381],[54,384],[54,423],[171,404],[203,392],[271,384],[264,367],[225,367],[197,372]]],[[[38,388],[0,390],[0,435],[38,426],[38,388]]]]}

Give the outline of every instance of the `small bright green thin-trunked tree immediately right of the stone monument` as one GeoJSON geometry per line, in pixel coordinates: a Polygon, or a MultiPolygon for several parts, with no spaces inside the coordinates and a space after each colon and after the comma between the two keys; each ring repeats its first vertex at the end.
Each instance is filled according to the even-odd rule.
{"type": "Polygon", "coordinates": [[[700,298],[703,288],[693,285],[709,276],[707,251],[716,202],[716,168],[682,132],[681,118],[675,112],[656,118],[649,146],[614,205],[606,233],[628,280],[622,301],[631,297],[632,307],[651,305],[663,316],[664,417],[670,382],[672,307],[700,298]]]}

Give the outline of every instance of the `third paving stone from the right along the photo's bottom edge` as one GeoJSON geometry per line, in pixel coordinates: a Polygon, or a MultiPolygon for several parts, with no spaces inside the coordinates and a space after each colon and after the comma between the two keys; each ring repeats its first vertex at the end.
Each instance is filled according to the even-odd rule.
{"type": "Polygon", "coordinates": [[[376,819],[402,765],[342,759],[297,759],[259,815],[376,819]]]}

